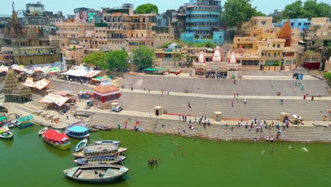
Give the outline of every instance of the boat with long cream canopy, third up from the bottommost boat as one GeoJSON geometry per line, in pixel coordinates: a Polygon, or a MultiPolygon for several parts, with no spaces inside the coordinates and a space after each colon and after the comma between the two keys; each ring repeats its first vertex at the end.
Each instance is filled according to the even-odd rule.
{"type": "Polygon", "coordinates": [[[86,145],[83,151],[76,152],[72,155],[76,158],[84,158],[84,157],[100,157],[106,155],[114,155],[114,154],[123,154],[127,151],[127,148],[118,147],[118,145],[86,145]]]}

